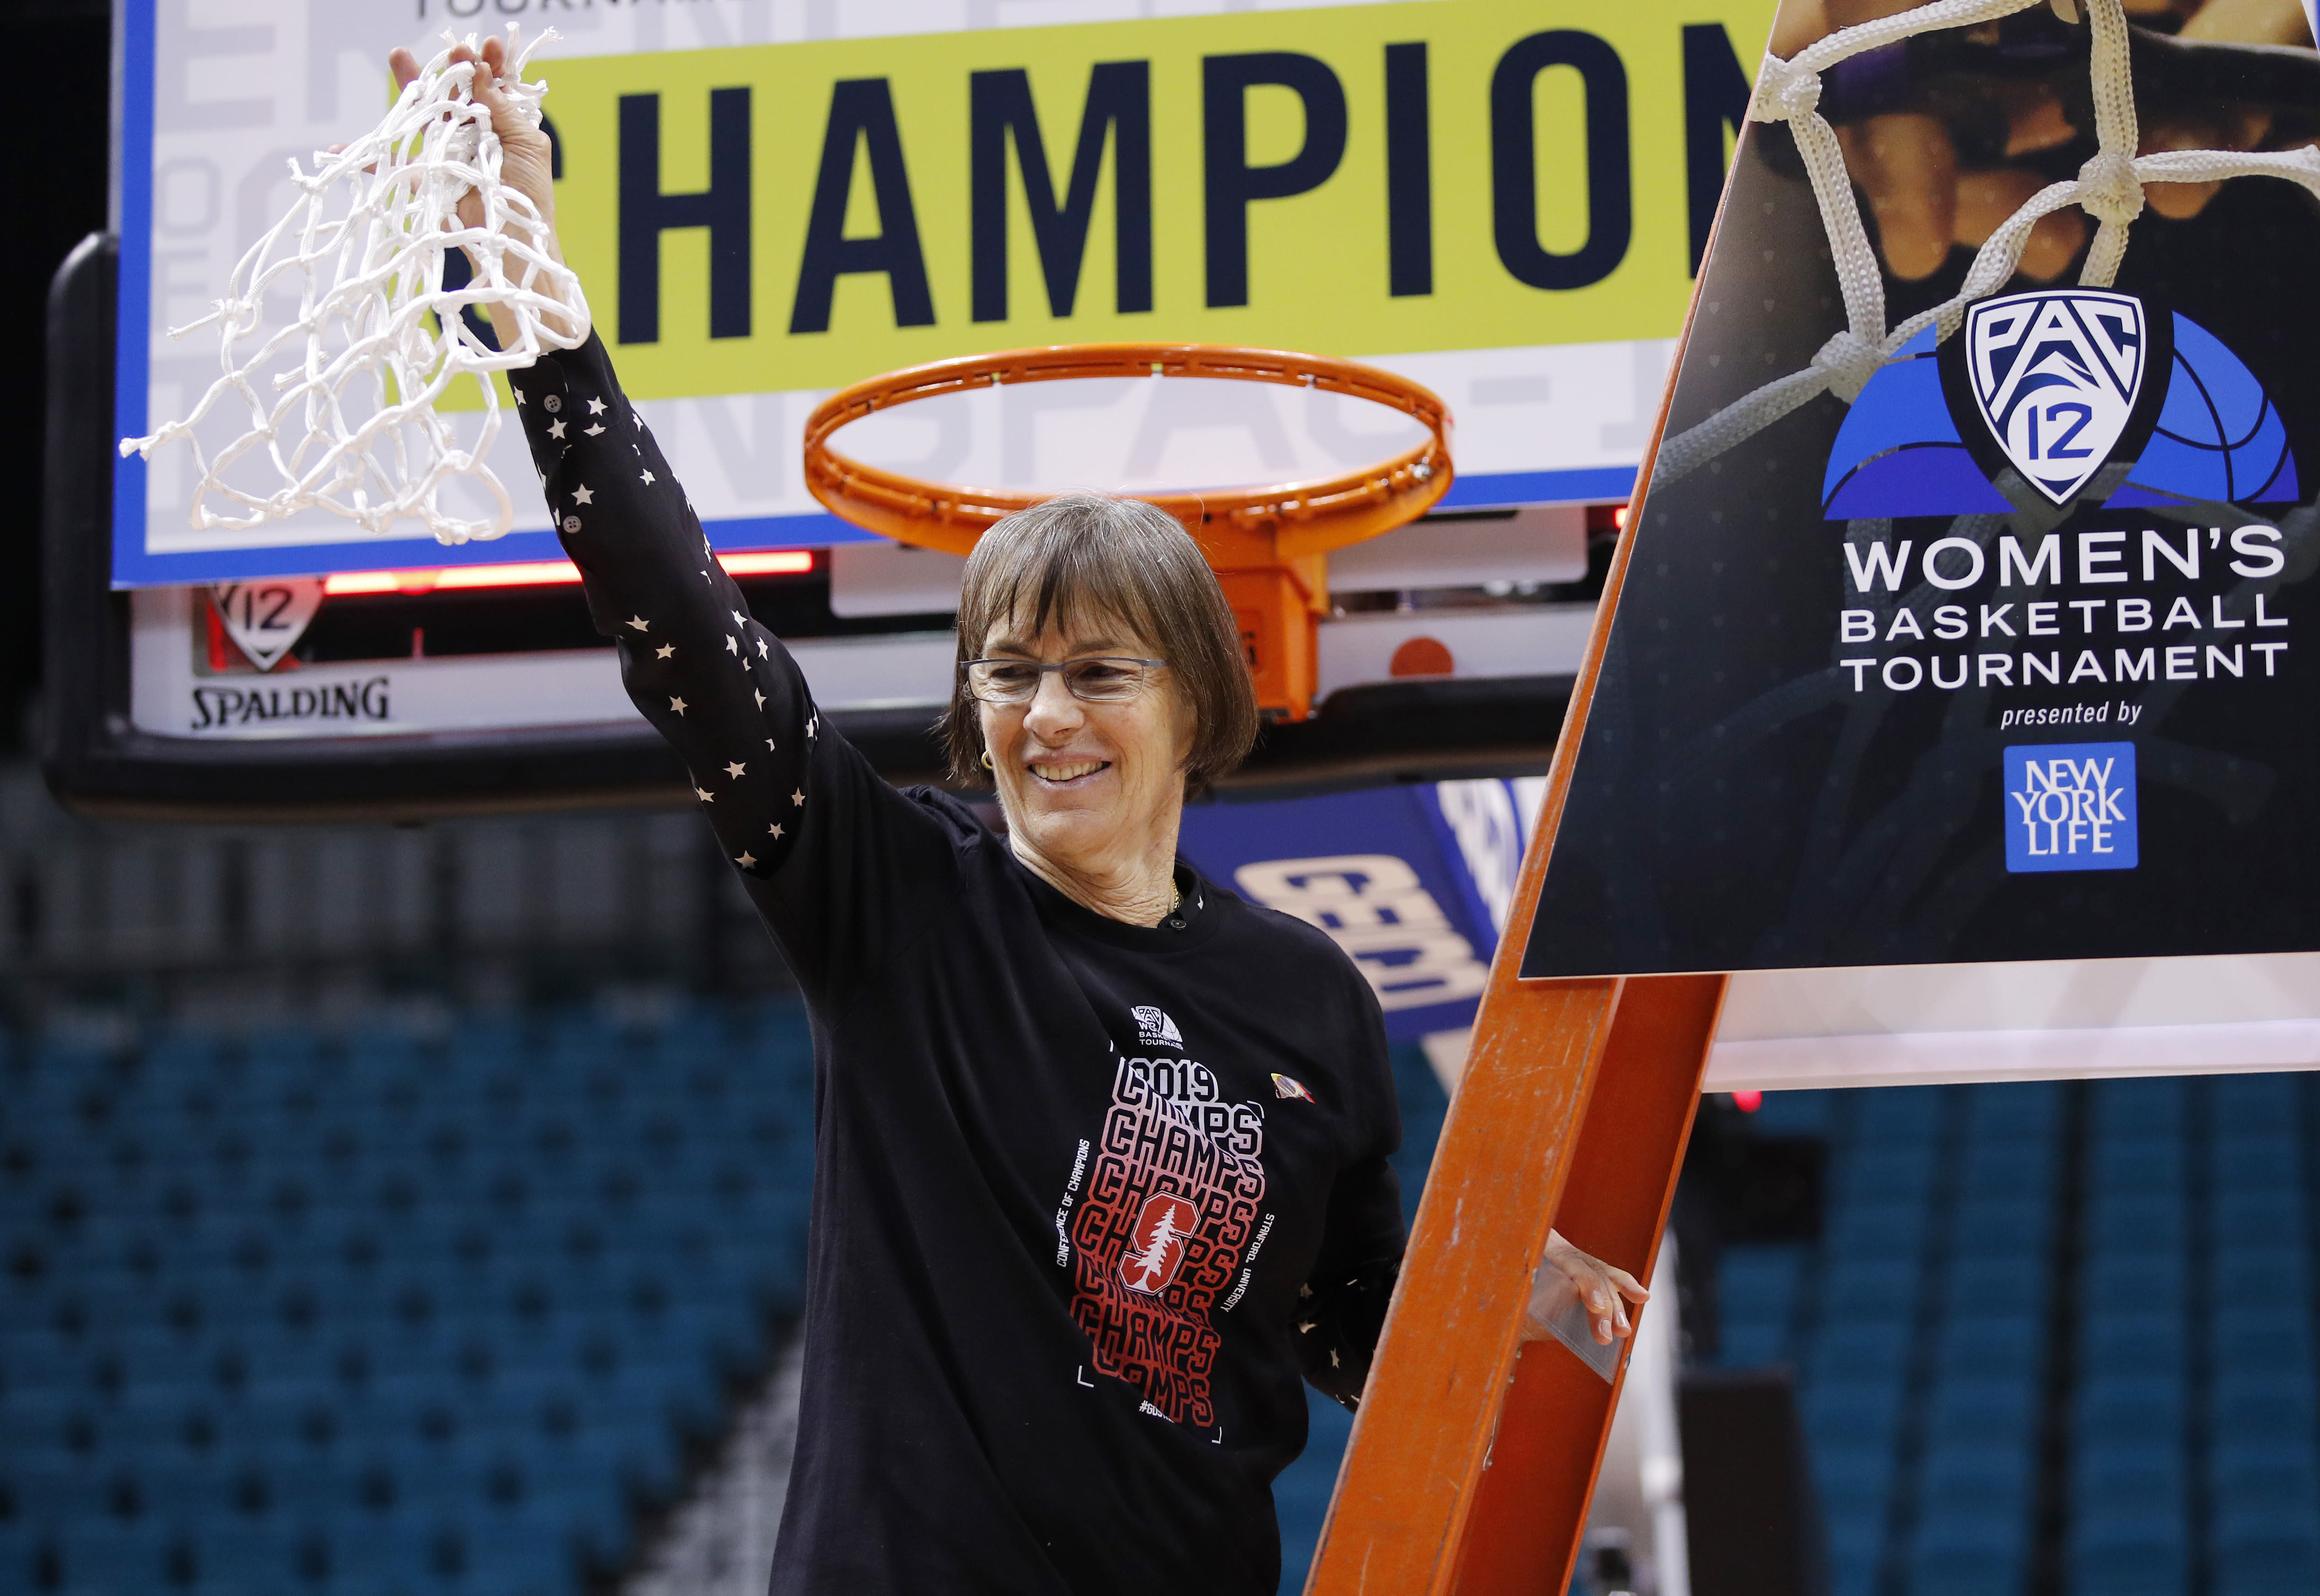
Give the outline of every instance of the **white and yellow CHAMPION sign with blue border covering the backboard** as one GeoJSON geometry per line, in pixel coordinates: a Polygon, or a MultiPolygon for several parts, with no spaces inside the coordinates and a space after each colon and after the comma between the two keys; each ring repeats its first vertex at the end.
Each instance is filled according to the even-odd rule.
{"type": "MultiPolygon", "coordinates": [[[[427,56],[445,28],[520,21],[564,35],[534,77],[550,86],[566,251],[719,547],[863,536],[824,515],[798,471],[828,390],[949,355],[1118,339],[1406,371],[1457,415],[1452,503],[1626,496],[1768,0],[1104,21],[1114,12],[125,0],[118,431],[183,415],[216,378],[211,334],[172,343],[167,327],[206,313],[288,209],[288,162],[383,111],[385,51],[427,56]],[[1032,14],[1042,26],[991,26],[1032,14]]],[[[295,315],[290,285],[278,299],[269,315],[295,315]]],[[[1070,399],[1021,404],[1007,425],[1035,441],[1037,411],[1070,399]]],[[[204,441],[246,425],[227,420],[204,441]]],[[[1199,459],[1195,422],[1174,425],[1199,459]]],[[[909,425],[926,431],[921,473],[967,459],[937,420],[909,425]]],[[[1315,436],[1257,438],[1260,469],[1378,457],[1360,415],[1299,425],[1315,436]]],[[[1002,441],[993,457],[1039,473],[1035,452],[1002,441]]],[[[517,489],[517,529],[441,550],[415,524],[374,538],[322,513],[195,531],[188,450],[132,459],[116,478],[114,580],[552,557],[513,427],[492,464],[517,489]]],[[[1049,476],[1079,483],[1070,462],[1049,476]]],[[[1186,476],[1176,485],[1218,480],[1186,476]]]]}

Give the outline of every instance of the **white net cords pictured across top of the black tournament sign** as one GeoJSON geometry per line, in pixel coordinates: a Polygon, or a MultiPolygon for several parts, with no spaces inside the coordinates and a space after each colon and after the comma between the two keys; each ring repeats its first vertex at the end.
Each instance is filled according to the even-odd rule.
{"type": "Polygon", "coordinates": [[[1965,274],[1965,285],[1951,299],[1886,329],[1884,276],[1877,267],[1877,253],[1870,248],[1868,230],[1861,225],[1854,183],[1844,172],[1844,148],[1837,144],[1835,128],[1817,109],[1821,100],[1821,72],[1847,56],[1895,44],[1919,32],[1970,28],[2049,2],[2065,21],[2076,21],[2072,0],[1933,0],[1933,5],[1882,16],[1872,23],[1840,28],[1826,39],[1800,49],[1789,60],[1779,56],[1763,58],[1749,116],[1763,123],[1784,121],[1796,135],[1796,148],[1805,158],[1812,193],[1821,204],[1821,223],[1828,227],[1828,251],[1837,267],[1837,288],[1844,292],[1847,327],[1828,339],[1803,371],[1766,383],[1701,425],[1661,443],[1659,462],[1652,471],[1654,483],[1673,483],[1687,471],[1708,464],[1821,392],[1833,392],[1844,404],[1851,404],[1868,380],[1877,376],[1877,369],[1893,360],[1926,327],[1940,329],[1935,341],[1951,336],[1965,320],[1965,306],[2007,285],[2014,267],[2021,262],[2023,246],[2030,241],[2030,230],[2051,211],[2076,204],[2100,223],[2095,244],[2086,251],[2086,264],[2079,269],[2079,283],[2086,288],[2109,288],[2118,274],[2120,257],[2127,253],[2127,225],[2144,209],[2144,183],[2283,176],[2320,195],[2320,148],[2308,144],[2292,151],[2162,151],[2137,155],[2134,74],[2127,67],[2127,14],[2120,0],[2093,0],[2088,21],[2095,30],[2090,67],[2100,148],[2079,167],[2074,181],[2049,183],[2000,223],[1998,232],[1974,255],[1974,264],[1965,274]]]}

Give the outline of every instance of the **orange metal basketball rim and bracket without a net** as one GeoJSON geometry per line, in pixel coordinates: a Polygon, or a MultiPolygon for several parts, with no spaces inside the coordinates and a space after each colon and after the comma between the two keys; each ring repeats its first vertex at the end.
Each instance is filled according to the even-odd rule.
{"type": "Polygon", "coordinates": [[[1241,624],[1257,705],[1304,719],[1318,680],[1313,626],[1329,608],[1329,550],[1413,522],[1450,489],[1450,411],[1408,378],[1350,360],[1216,343],[1074,343],[937,360],[824,399],[805,422],[805,485],[856,527],[965,554],[993,522],[1028,510],[1046,494],[921,483],[847,459],[831,448],[831,434],[914,399],[1121,376],[1318,387],[1401,411],[1427,429],[1424,443],[1346,476],[1202,494],[1134,494],[1183,522],[1216,568],[1241,624]]]}

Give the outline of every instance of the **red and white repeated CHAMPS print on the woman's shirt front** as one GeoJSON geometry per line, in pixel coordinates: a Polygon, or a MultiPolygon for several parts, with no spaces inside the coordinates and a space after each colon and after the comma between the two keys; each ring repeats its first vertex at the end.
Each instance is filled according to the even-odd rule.
{"type": "Polygon", "coordinates": [[[1209,1322],[1264,1202],[1264,1120],[1220,1102],[1192,1060],[1123,1058],[1088,1197],[1072,1216],[1072,1318],[1097,1373],[1179,1424],[1209,1427],[1209,1322]]]}

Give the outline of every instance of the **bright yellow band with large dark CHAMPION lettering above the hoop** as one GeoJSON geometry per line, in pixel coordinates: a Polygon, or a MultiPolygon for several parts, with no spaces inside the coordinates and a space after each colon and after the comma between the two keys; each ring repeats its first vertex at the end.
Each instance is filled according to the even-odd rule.
{"type": "Polygon", "coordinates": [[[1028,343],[1673,336],[1770,16],[1420,0],[557,60],[557,223],[638,397],[1028,343]]]}

